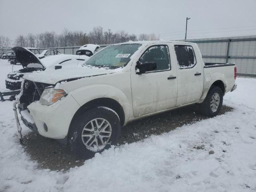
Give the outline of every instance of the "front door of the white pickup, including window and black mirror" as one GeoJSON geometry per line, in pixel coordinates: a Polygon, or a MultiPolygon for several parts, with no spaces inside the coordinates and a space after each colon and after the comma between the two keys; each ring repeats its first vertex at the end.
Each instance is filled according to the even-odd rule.
{"type": "Polygon", "coordinates": [[[157,68],[144,74],[136,74],[135,66],[131,68],[134,117],[176,106],[176,67],[171,67],[168,45],[150,46],[140,62],[156,62],[157,68]]]}

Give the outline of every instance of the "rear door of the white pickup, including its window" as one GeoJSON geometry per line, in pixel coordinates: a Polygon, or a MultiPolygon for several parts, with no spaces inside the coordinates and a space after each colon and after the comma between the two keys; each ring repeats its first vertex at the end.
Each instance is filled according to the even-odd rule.
{"type": "Polygon", "coordinates": [[[204,74],[198,48],[192,45],[174,45],[177,57],[177,106],[196,102],[202,95],[204,74]]]}

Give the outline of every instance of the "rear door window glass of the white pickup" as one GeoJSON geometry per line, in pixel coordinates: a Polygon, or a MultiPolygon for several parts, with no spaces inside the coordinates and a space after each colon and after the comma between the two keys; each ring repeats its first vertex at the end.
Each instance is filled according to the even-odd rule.
{"type": "Polygon", "coordinates": [[[180,69],[192,68],[196,64],[196,57],[192,46],[175,45],[174,49],[180,69]]]}

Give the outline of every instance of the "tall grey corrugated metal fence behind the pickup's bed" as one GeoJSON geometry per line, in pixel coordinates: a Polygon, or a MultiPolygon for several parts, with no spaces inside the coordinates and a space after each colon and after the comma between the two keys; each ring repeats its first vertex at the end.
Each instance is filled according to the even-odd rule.
{"type": "Polygon", "coordinates": [[[235,63],[238,73],[256,74],[256,35],[187,41],[198,44],[204,62],[235,63]]]}

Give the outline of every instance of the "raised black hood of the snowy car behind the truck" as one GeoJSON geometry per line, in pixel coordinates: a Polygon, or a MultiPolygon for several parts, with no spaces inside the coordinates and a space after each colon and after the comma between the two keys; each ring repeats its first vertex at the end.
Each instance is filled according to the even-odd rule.
{"type": "Polygon", "coordinates": [[[40,61],[40,59],[35,56],[31,51],[23,47],[14,47],[16,59],[20,62],[20,64],[25,68],[28,64],[31,64],[31,67],[42,68],[44,69],[44,65],[40,61]]]}

